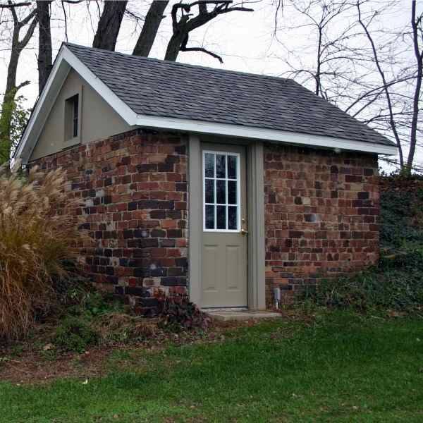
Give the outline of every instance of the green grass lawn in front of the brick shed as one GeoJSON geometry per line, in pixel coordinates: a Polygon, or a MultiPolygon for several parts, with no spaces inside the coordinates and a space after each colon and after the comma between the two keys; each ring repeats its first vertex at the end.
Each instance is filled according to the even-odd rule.
{"type": "Polygon", "coordinates": [[[0,383],[1,422],[423,422],[422,319],[264,321],[106,365],[88,384],[0,383]]]}

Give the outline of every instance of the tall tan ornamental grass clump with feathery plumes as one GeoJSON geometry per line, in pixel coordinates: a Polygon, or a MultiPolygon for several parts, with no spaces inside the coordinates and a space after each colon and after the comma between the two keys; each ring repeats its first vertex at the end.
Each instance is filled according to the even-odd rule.
{"type": "Polygon", "coordinates": [[[0,168],[0,338],[27,333],[54,298],[52,280],[65,272],[81,240],[73,200],[63,192],[65,172],[32,168],[24,178],[0,168]]]}

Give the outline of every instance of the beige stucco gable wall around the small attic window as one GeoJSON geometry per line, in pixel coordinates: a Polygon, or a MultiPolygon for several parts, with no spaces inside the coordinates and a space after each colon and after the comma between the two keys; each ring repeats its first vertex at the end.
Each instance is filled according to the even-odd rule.
{"type": "Polygon", "coordinates": [[[104,102],[99,94],[72,69],[51,108],[30,160],[54,154],[79,142],[102,140],[129,129],[130,127],[109,104],[104,102]],[[76,140],[66,141],[65,101],[75,94],[80,94],[80,135],[76,140]]]}

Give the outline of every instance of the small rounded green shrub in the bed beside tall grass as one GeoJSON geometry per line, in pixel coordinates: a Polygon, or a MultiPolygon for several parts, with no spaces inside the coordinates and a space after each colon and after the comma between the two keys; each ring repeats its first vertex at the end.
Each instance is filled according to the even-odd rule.
{"type": "Polygon", "coordinates": [[[97,343],[98,334],[82,317],[67,316],[56,328],[54,345],[65,351],[81,353],[88,345],[97,343]]]}

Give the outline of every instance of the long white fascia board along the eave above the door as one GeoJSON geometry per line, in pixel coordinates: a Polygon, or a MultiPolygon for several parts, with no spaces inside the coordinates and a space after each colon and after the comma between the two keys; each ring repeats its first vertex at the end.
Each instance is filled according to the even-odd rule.
{"type": "Polygon", "coordinates": [[[255,140],[281,142],[294,145],[324,147],[376,154],[396,154],[394,145],[375,144],[355,140],[345,140],[322,135],[290,133],[284,130],[255,128],[252,126],[230,125],[228,123],[213,123],[194,121],[191,119],[166,118],[162,116],[138,115],[137,125],[153,128],[183,130],[192,133],[228,135],[231,137],[252,138],[255,140]]]}

